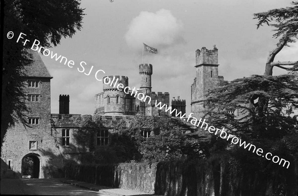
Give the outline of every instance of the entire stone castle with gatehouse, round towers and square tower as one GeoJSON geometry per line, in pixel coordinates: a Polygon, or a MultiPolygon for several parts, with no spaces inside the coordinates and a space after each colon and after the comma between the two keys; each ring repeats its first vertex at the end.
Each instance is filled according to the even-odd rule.
{"type": "MultiPolygon", "coordinates": [[[[28,176],[25,162],[32,161],[31,178],[61,177],[59,169],[65,160],[77,160],[77,157],[88,148],[76,143],[75,134],[80,131],[76,123],[84,119],[100,122],[96,134],[92,138],[96,148],[108,146],[114,125],[120,120],[130,123],[134,115],[159,116],[169,112],[155,107],[155,100],[169,104],[169,93],[151,91],[152,65],[139,66],[140,90],[130,89],[128,77],[108,76],[110,85],[103,80],[103,92],[95,95],[95,112],[93,115],[70,114],[70,96],[60,95],[59,113],[51,113],[51,79],[53,78],[37,52],[33,52],[34,63],[26,67],[26,104],[29,108],[28,124],[24,127],[16,123],[8,128],[1,147],[1,176],[11,174],[28,176]],[[121,85],[119,85],[121,84],[121,85]],[[118,89],[117,87],[121,87],[118,89]],[[116,87],[117,86],[117,87],[116,87]],[[144,94],[151,102],[142,101],[136,95],[144,94]]],[[[224,77],[218,76],[218,49],[207,50],[203,47],[196,51],[196,78],[191,86],[191,111],[196,116],[202,115],[204,97],[215,88],[224,77]]],[[[186,101],[179,97],[171,102],[173,109],[185,113],[186,101]]],[[[174,113],[172,113],[173,115],[174,113]]],[[[140,133],[149,137],[146,130],[140,133]]]]}

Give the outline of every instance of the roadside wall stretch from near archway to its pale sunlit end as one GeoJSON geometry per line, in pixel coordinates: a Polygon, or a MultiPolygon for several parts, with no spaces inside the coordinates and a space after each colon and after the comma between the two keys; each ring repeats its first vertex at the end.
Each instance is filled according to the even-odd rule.
{"type": "Polygon", "coordinates": [[[156,164],[121,163],[119,165],[79,165],[74,162],[65,167],[65,176],[87,183],[154,193],[156,164]]]}

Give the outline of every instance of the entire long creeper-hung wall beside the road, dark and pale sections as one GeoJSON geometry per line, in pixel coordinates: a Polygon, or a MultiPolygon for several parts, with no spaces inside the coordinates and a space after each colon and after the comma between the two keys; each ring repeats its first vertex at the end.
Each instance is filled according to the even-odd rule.
{"type": "MultiPolygon", "coordinates": [[[[270,164],[270,163],[269,163],[270,164]]],[[[240,163],[227,155],[158,164],[65,166],[66,177],[97,185],[163,196],[296,196],[297,165],[270,170],[255,162],[240,163]],[[96,172],[95,172],[96,171],[96,172]]],[[[267,166],[268,167],[268,166],[267,166]]]]}

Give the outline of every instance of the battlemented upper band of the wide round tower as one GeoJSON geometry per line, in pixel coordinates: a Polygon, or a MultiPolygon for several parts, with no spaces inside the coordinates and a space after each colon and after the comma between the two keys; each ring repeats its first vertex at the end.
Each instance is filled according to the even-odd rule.
{"type": "MultiPolygon", "coordinates": [[[[118,84],[123,84],[123,88],[128,87],[128,77],[126,76],[104,76],[102,79],[103,91],[117,90],[118,84]],[[109,79],[105,79],[109,78],[109,79]],[[105,83],[107,84],[105,84],[105,83]]],[[[119,87],[119,89],[123,89],[119,87]]]]}

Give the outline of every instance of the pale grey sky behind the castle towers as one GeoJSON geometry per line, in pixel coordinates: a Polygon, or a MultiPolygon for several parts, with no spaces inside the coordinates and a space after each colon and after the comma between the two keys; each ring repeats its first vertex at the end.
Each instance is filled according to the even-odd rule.
{"type": "MultiPolygon", "coordinates": [[[[263,75],[265,62],[277,39],[271,27],[256,28],[253,13],[290,6],[292,0],[84,0],[82,29],[63,38],[51,51],[74,61],[73,68],[42,56],[51,80],[51,113],[59,112],[59,95],[70,95],[70,113],[93,114],[94,95],[102,92],[104,76],[127,76],[140,87],[139,64],[143,42],[158,54],[144,52],[153,66],[152,91],[186,99],[195,78],[195,51],[213,45],[219,50],[219,75],[224,80],[263,75]],[[86,74],[78,72],[80,62],[86,74]]],[[[297,60],[298,43],[275,60],[297,60]],[[296,57],[296,58],[295,58],[296,57]]],[[[273,75],[286,71],[274,68],[273,75]]]]}

